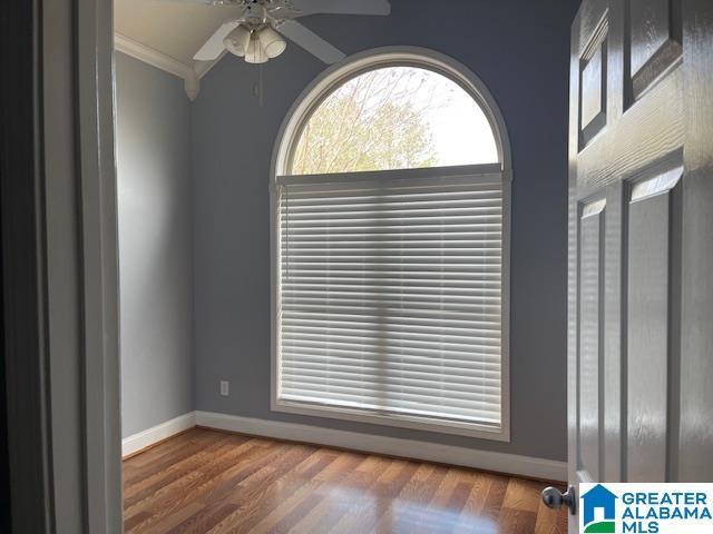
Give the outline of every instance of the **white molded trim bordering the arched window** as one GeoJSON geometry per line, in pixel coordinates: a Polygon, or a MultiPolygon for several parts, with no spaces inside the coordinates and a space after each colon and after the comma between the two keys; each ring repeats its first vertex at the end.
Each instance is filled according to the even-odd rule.
{"type": "MultiPolygon", "coordinates": [[[[433,171],[437,169],[424,169],[433,171]]],[[[510,441],[510,225],[511,225],[511,150],[505,118],[487,86],[465,65],[457,60],[420,47],[383,47],[356,53],[328,68],[318,76],[297,97],[287,111],[273,147],[270,180],[270,250],[271,250],[271,409],[311,414],[322,417],[364,421],[381,425],[408,426],[431,432],[457,433],[491,441],[510,441]],[[290,166],[293,147],[299,140],[302,126],[311,112],[333,90],[334,87],[361,72],[390,65],[413,65],[439,72],[459,83],[480,106],[488,118],[496,139],[499,156],[499,176],[502,181],[502,277],[501,277],[501,423],[498,432],[476,428],[470,432],[455,432],[448,425],[440,431],[428,423],[408,422],[399,418],[374,417],[372,415],[340,414],[312,407],[290,407],[277,399],[277,328],[279,328],[279,261],[280,239],[277,237],[277,191],[279,177],[284,180],[290,166]],[[384,421],[385,419],[385,421],[384,421]],[[420,426],[419,426],[420,425],[420,426]]],[[[564,479],[564,477],[563,477],[564,479]]]]}

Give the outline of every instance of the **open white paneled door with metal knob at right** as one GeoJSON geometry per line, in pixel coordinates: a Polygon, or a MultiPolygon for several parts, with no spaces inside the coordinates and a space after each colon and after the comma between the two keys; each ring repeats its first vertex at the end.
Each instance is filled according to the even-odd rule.
{"type": "Polygon", "coordinates": [[[713,481],[713,2],[584,0],[570,69],[555,505],[582,482],[713,481]]]}

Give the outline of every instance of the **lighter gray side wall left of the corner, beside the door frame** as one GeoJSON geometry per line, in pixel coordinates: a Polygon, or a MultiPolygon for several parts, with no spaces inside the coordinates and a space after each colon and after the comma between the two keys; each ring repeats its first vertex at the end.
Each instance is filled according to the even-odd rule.
{"type": "Polygon", "coordinates": [[[191,112],[183,81],[116,55],[124,437],[194,409],[191,112]]]}

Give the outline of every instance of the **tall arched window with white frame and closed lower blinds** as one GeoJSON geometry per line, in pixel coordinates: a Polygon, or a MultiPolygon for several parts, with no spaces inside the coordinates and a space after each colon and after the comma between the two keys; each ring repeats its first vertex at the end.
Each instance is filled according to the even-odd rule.
{"type": "Polygon", "coordinates": [[[360,55],[293,106],[273,168],[273,409],[509,439],[509,149],[485,86],[360,55]]]}

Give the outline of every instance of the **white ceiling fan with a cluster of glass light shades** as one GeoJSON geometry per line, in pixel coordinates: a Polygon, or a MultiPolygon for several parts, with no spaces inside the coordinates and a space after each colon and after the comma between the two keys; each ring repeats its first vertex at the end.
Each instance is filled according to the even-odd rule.
{"type": "Polygon", "coordinates": [[[344,53],[309,30],[296,18],[318,13],[389,14],[388,0],[195,0],[209,6],[235,6],[236,19],[224,22],[201,47],[193,59],[212,61],[224,50],[264,63],[284,52],[283,36],[325,63],[334,63],[344,53]]]}

